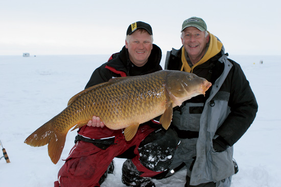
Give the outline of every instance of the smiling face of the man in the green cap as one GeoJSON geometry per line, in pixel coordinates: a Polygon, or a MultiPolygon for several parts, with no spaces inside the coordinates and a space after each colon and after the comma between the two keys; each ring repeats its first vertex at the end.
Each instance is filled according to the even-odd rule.
{"type": "Polygon", "coordinates": [[[182,31],[181,42],[192,61],[197,63],[205,53],[209,36],[205,37],[205,33],[199,29],[190,26],[182,31]]]}

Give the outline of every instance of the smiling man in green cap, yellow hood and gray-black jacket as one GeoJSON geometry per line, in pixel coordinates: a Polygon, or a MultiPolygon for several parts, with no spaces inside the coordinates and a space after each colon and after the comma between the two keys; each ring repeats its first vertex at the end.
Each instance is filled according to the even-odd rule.
{"type": "Polygon", "coordinates": [[[213,86],[174,108],[180,144],[166,177],[186,168],[185,186],[228,187],[238,172],[233,144],[253,122],[257,102],[240,65],[227,58],[203,19],[184,20],[181,41],[179,50],[167,52],[165,69],[192,72],[213,86]]]}

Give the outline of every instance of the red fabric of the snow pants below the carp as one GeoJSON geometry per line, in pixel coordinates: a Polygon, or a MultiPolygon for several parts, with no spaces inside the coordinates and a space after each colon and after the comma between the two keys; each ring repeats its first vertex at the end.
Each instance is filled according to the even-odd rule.
{"type": "Polygon", "coordinates": [[[134,153],[138,156],[133,158],[133,163],[138,171],[145,172],[145,176],[151,177],[161,173],[146,169],[138,160],[139,154],[137,148],[140,142],[154,130],[155,128],[149,125],[140,126],[131,141],[125,140],[122,130],[115,130],[118,133],[114,132],[114,145],[110,145],[105,150],[98,148],[92,143],[78,141],[65,160],[65,164],[59,170],[58,181],[55,181],[55,187],[100,186],[99,180],[106,172],[113,158],[124,153],[132,146],[136,146],[134,153]]]}

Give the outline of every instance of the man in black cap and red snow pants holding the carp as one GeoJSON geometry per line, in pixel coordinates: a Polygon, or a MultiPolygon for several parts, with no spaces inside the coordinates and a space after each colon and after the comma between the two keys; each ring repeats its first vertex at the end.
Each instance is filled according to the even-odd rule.
{"type": "MultiPolygon", "coordinates": [[[[129,25],[122,50],[92,73],[85,89],[111,78],[161,70],[160,60],[161,49],[153,44],[151,26],[137,21],[129,25]]],[[[134,138],[126,141],[123,129],[109,129],[93,116],[78,130],[76,144],[60,169],[55,186],[100,186],[107,173],[113,172],[113,158],[120,157],[127,158],[122,168],[124,184],[155,187],[150,177],[170,166],[179,143],[174,130],[166,131],[157,123],[151,120],[139,125],[134,138]]]]}

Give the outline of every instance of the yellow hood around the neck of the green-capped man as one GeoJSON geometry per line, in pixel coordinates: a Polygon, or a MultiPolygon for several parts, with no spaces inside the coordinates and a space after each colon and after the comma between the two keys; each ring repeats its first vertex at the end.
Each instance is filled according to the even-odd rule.
{"type": "Polygon", "coordinates": [[[194,66],[192,66],[192,68],[189,66],[189,63],[186,61],[185,59],[185,55],[184,55],[184,47],[182,46],[182,50],[181,50],[181,62],[182,62],[182,66],[181,66],[181,71],[184,68],[184,71],[186,72],[191,72],[193,71],[193,69],[200,65],[203,64],[204,62],[206,62],[207,60],[209,60],[210,58],[214,57],[215,55],[218,54],[218,52],[221,51],[222,49],[222,43],[213,35],[210,34],[210,41],[209,41],[209,47],[207,52],[205,53],[205,55],[203,56],[203,58],[197,62],[194,66]]]}

